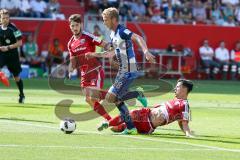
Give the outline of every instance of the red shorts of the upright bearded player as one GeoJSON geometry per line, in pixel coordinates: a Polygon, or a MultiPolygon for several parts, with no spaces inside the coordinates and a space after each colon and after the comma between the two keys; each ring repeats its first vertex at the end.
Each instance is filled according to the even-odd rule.
{"type": "Polygon", "coordinates": [[[102,89],[104,77],[104,70],[102,68],[90,71],[87,74],[81,70],[81,87],[96,87],[102,89]]]}

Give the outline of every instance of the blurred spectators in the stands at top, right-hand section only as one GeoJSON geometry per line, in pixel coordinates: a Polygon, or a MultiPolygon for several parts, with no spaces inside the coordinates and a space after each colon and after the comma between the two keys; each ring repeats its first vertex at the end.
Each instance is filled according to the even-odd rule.
{"type": "Polygon", "coordinates": [[[221,26],[240,22],[239,0],[91,0],[89,6],[96,14],[114,6],[128,21],[221,26]]]}

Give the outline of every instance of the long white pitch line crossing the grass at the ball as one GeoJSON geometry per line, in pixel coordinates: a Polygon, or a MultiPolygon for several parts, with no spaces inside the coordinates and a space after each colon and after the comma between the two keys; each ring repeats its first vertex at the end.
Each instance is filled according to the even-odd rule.
{"type": "MultiPolygon", "coordinates": [[[[14,121],[11,121],[11,120],[0,120],[0,122],[1,121],[7,121],[8,123],[21,124],[21,125],[26,125],[26,126],[34,126],[34,127],[40,127],[40,128],[49,128],[49,129],[55,129],[55,130],[59,129],[57,127],[46,126],[46,125],[38,125],[38,124],[32,124],[32,123],[26,123],[26,122],[16,122],[16,121],[14,122],[14,121]]],[[[98,134],[98,135],[112,135],[112,134],[102,134],[100,132],[94,132],[94,131],[82,131],[82,130],[78,130],[78,131],[80,133],[90,133],[90,134],[98,134]]],[[[177,141],[168,141],[168,140],[155,139],[155,138],[137,137],[137,136],[134,136],[134,135],[116,135],[115,134],[115,135],[112,135],[112,136],[119,136],[119,137],[125,137],[125,138],[130,138],[130,139],[138,139],[138,140],[153,141],[153,142],[164,142],[164,143],[188,145],[188,146],[193,146],[193,147],[207,148],[207,149],[210,149],[210,150],[219,150],[219,151],[240,153],[240,149],[228,149],[228,148],[222,148],[222,147],[216,147],[216,146],[193,144],[193,143],[188,143],[188,142],[177,142],[177,141]]],[[[188,149],[185,149],[185,150],[188,150],[188,149]]]]}

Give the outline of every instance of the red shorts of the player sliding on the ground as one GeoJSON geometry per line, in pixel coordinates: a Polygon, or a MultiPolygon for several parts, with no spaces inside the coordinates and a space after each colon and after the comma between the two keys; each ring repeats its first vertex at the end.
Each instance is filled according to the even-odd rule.
{"type": "Polygon", "coordinates": [[[138,133],[150,134],[154,131],[154,128],[149,120],[150,111],[151,110],[149,108],[141,108],[130,112],[138,133]]]}

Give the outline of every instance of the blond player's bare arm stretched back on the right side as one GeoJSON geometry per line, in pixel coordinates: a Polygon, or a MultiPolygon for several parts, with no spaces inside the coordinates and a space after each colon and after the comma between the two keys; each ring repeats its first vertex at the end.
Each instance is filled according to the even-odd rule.
{"type": "Polygon", "coordinates": [[[142,51],[143,51],[146,59],[147,59],[149,62],[154,63],[154,62],[155,62],[155,56],[152,55],[152,54],[149,52],[148,47],[147,47],[147,44],[146,44],[146,42],[144,41],[144,39],[143,39],[141,36],[139,36],[139,35],[137,35],[137,34],[135,34],[135,33],[133,33],[131,39],[132,39],[132,41],[134,41],[135,43],[137,43],[138,46],[142,49],[142,51]]]}

